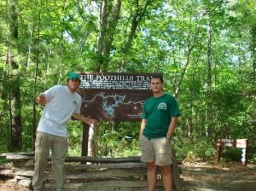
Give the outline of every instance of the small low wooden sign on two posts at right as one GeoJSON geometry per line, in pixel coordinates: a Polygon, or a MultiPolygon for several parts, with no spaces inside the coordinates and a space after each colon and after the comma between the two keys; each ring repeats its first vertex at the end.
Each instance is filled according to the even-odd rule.
{"type": "Polygon", "coordinates": [[[216,147],[217,147],[217,152],[216,152],[217,164],[220,159],[222,148],[229,147],[229,148],[242,148],[241,149],[241,163],[244,166],[247,165],[247,147],[248,147],[247,139],[221,139],[221,138],[218,138],[216,140],[216,147]]]}

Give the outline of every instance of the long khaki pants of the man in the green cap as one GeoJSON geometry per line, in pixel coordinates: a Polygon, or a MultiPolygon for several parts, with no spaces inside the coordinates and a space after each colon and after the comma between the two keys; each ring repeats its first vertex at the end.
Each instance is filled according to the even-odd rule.
{"type": "Polygon", "coordinates": [[[67,137],[37,132],[35,142],[35,170],[32,180],[34,190],[41,190],[44,184],[44,168],[51,149],[52,173],[55,190],[61,190],[65,181],[64,162],[67,155],[67,137]]]}

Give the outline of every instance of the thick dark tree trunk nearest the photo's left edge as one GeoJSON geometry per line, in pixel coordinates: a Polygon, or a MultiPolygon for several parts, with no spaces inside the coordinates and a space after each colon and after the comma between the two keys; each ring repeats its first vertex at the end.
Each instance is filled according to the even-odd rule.
{"type": "Polygon", "coordinates": [[[10,126],[10,151],[22,148],[22,129],[21,129],[21,101],[20,101],[20,76],[13,75],[12,72],[19,66],[12,55],[18,41],[18,13],[17,2],[9,2],[9,47],[6,63],[9,66],[9,126],[10,126]]]}

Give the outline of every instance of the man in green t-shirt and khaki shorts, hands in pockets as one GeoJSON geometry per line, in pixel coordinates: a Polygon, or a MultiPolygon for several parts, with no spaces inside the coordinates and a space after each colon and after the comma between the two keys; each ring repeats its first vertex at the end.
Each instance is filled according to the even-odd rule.
{"type": "Polygon", "coordinates": [[[148,167],[148,191],[154,190],[157,166],[160,166],[165,191],[172,191],[171,141],[180,112],[175,98],[164,93],[163,85],[161,76],[151,78],[153,96],[145,101],[139,134],[141,159],[148,167]]]}

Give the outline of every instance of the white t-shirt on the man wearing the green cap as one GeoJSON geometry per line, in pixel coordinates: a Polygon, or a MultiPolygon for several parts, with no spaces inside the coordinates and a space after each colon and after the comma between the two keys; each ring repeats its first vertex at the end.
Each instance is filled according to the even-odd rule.
{"type": "Polygon", "coordinates": [[[80,113],[81,96],[65,85],[55,85],[44,92],[47,102],[38,124],[38,131],[67,137],[67,121],[73,113],[80,113]]]}

